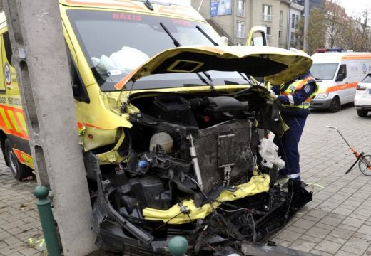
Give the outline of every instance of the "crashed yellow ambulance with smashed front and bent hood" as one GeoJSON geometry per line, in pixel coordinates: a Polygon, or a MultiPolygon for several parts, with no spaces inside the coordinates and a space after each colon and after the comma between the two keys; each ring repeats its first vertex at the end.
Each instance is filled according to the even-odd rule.
{"type": "MultiPolygon", "coordinates": [[[[264,130],[285,131],[263,85],[305,73],[308,55],[223,46],[188,6],[63,0],[60,8],[99,247],[168,255],[181,235],[190,255],[238,253],[311,200],[270,180],[260,144],[264,130]]],[[[27,164],[14,154],[29,151],[12,141],[8,122],[0,123],[6,159],[27,164]]]]}

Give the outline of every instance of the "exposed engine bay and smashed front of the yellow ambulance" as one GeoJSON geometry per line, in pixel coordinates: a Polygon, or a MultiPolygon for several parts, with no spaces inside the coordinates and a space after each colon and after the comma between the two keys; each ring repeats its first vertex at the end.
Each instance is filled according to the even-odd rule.
{"type": "Polygon", "coordinates": [[[258,154],[264,130],[256,127],[259,110],[249,102],[210,94],[133,97],[140,112],[124,131],[126,160],[112,171],[100,170],[93,154],[86,157],[98,181],[98,245],[167,253],[168,240],[183,235],[193,253],[218,255],[233,251],[230,242],[263,240],[310,201],[301,188],[289,186],[301,195],[290,199],[269,186],[271,170],[258,154]]]}

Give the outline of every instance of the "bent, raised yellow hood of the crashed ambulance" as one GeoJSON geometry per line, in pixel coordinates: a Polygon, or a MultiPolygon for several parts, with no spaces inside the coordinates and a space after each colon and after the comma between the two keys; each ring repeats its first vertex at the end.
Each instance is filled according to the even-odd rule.
{"type": "Polygon", "coordinates": [[[280,85],[303,75],[311,65],[312,59],[306,53],[269,46],[182,46],[153,56],[115,87],[121,90],[128,81],[147,75],[209,70],[238,71],[280,85]]]}

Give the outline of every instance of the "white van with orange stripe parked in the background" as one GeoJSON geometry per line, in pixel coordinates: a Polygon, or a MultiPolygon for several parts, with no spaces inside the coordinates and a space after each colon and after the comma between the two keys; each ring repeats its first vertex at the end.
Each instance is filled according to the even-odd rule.
{"type": "Polygon", "coordinates": [[[315,53],[310,73],[320,90],[310,102],[311,109],[337,112],[340,105],[353,102],[358,82],[371,72],[371,53],[315,53]]]}

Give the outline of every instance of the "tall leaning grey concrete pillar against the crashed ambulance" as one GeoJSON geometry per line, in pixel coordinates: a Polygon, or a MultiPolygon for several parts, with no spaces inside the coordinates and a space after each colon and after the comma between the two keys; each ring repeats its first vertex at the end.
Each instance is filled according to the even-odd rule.
{"type": "Polygon", "coordinates": [[[4,0],[38,183],[53,194],[66,256],[96,250],[57,0],[4,0]]]}

